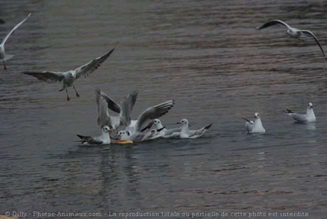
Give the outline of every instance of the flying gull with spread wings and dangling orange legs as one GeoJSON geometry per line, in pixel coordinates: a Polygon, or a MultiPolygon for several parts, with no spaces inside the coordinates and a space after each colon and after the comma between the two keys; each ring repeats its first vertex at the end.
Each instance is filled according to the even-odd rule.
{"type": "Polygon", "coordinates": [[[79,97],[79,94],[74,86],[74,82],[76,79],[84,78],[93,73],[95,70],[99,68],[99,66],[110,56],[115,47],[106,53],[105,55],[92,60],[91,62],[75,69],[70,70],[68,72],[22,72],[23,74],[32,75],[39,80],[43,80],[47,83],[54,83],[58,81],[62,81],[63,85],[59,91],[66,89],[67,93],[67,101],[70,101],[68,96],[67,87],[73,86],[76,96],[79,97]]]}

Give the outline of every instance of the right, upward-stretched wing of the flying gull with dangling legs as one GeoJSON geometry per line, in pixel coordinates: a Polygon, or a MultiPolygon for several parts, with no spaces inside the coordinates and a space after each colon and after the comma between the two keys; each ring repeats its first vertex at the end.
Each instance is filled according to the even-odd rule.
{"type": "Polygon", "coordinates": [[[76,79],[87,77],[91,73],[96,71],[99,68],[99,66],[110,56],[110,54],[113,52],[114,48],[115,47],[113,47],[113,49],[110,50],[109,53],[107,53],[103,56],[100,56],[99,58],[92,60],[88,64],[85,64],[85,65],[79,67],[78,69],[76,69],[75,70],[76,71],[76,79]]]}

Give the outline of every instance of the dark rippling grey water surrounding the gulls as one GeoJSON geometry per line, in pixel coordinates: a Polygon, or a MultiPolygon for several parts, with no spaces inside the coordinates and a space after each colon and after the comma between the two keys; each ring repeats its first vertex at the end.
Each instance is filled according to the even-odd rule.
{"type": "Polygon", "coordinates": [[[327,59],[314,40],[289,38],[283,26],[255,31],[281,19],[310,29],[326,49],[326,8],[326,1],[302,0],[1,0],[0,39],[32,15],[6,42],[15,57],[0,73],[0,214],[326,218],[327,59]],[[96,72],[75,83],[80,98],[68,89],[70,102],[60,83],[20,74],[75,69],[118,41],[96,72]],[[135,119],[174,99],[161,118],[167,128],[182,118],[195,128],[214,126],[193,140],[79,146],[76,134],[101,132],[97,87],[115,100],[139,90],[135,119]],[[308,102],[317,123],[296,124],[282,112],[305,113],[308,102]],[[241,117],[255,112],[264,135],[245,133],[241,117]]]}

